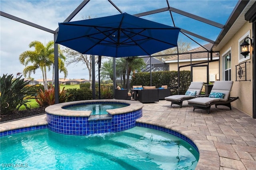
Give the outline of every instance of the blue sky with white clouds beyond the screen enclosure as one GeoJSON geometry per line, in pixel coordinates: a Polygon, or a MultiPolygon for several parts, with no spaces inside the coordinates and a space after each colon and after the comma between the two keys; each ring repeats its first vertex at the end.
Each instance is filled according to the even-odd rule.
{"type": "MultiPolygon", "coordinates": [[[[0,0],[1,12],[6,12],[26,21],[36,23],[48,29],[56,30],[58,23],[63,22],[77,8],[82,0],[0,0]]],[[[150,10],[166,8],[166,0],[112,0],[122,11],[128,14],[138,14],[150,10]]],[[[170,7],[194,14],[225,25],[237,0],[168,0],[170,7]]],[[[120,14],[107,0],[91,0],[71,20],[83,20],[84,18],[98,18],[120,14]]],[[[191,31],[213,41],[218,37],[221,29],[212,25],[196,21],[180,14],[172,13],[176,27],[191,31]]],[[[156,21],[162,24],[174,26],[170,12],[161,12],[141,18],[156,21]]],[[[192,36],[190,36],[192,37],[192,36]]],[[[34,50],[29,48],[32,41],[40,41],[43,44],[52,41],[54,35],[46,31],[10,20],[0,16],[0,76],[23,72],[24,65],[20,64],[19,56],[24,51],[34,50]]],[[[208,42],[192,37],[200,45],[208,42]]],[[[190,43],[192,48],[199,47],[188,37],[179,34],[178,41],[190,43]]],[[[63,46],[62,46],[63,47],[63,46]]],[[[68,79],[89,79],[88,70],[82,63],[66,66],[68,79]]],[[[96,67],[97,68],[97,67],[96,67]]],[[[36,70],[31,74],[35,80],[42,78],[42,71],[36,70]]],[[[52,78],[52,71],[47,73],[52,78]]],[[[64,74],[59,73],[59,78],[64,74]]]]}

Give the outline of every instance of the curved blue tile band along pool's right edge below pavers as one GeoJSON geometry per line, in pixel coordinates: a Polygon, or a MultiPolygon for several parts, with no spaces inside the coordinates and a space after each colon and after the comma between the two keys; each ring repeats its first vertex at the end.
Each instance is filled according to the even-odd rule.
{"type": "Polygon", "coordinates": [[[196,149],[196,151],[199,153],[199,150],[196,147],[196,144],[194,144],[194,142],[191,139],[189,139],[188,137],[186,137],[186,136],[184,136],[184,135],[182,135],[182,134],[180,134],[176,131],[173,131],[171,129],[167,129],[165,127],[156,126],[156,125],[149,125],[149,124],[146,124],[146,123],[136,123],[136,126],[147,127],[147,128],[156,129],[156,130],[159,130],[159,131],[163,131],[163,132],[172,134],[176,137],[179,137],[180,139],[183,139],[184,141],[186,141],[190,145],[192,145],[192,147],[194,147],[194,149],[196,149]]]}

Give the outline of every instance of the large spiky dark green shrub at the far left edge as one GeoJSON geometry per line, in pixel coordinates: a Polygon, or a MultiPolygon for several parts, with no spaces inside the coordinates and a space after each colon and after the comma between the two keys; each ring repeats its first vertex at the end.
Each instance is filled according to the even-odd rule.
{"type": "Polygon", "coordinates": [[[3,74],[0,77],[0,110],[1,114],[11,114],[17,111],[22,105],[26,109],[29,107],[29,99],[36,96],[36,91],[27,86],[30,80],[24,81],[24,78],[18,77],[13,79],[13,75],[3,74]]]}

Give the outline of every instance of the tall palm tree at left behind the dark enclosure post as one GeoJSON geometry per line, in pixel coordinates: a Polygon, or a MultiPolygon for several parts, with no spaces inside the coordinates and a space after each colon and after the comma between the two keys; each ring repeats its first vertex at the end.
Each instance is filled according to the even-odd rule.
{"type": "MultiPolygon", "coordinates": [[[[27,75],[30,76],[32,72],[35,73],[39,68],[42,71],[44,89],[46,90],[48,89],[46,68],[50,70],[50,67],[54,66],[54,41],[49,41],[45,46],[40,41],[32,41],[29,47],[34,47],[35,50],[24,51],[19,57],[20,63],[26,66],[23,70],[23,74],[25,77],[27,75]],[[32,65],[28,66],[30,63],[32,63],[32,65]]],[[[65,57],[62,51],[59,51],[60,72],[63,71],[64,75],[67,76],[68,71],[64,67],[64,60],[65,57]]]]}

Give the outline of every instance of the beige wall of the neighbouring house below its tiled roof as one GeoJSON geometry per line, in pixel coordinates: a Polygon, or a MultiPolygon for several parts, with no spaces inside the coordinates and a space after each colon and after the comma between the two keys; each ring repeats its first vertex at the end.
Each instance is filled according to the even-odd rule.
{"type": "MultiPolygon", "coordinates": [[[[193,61],[192,64],[194,63],[200,63],[203,61],[193,61]]],[[[184,66],[190,64],[190,62],[180,62],[179,66],[184,66]]],[[[206,65],[205,64],[200,64],[200,65],[206,65]]],[[[170,71],[177,71],[178,70],[178,65],[177,63],[169,63],[169,70],[170,71]]],[[[190,66],[182,67],[180,68],[181,70],[190,70],[190,66]]],[[[209,74],[212,74],[214,76],[214,79],[217,74],[217,79],[218,79],[218,73],[219,73],[219,62],[215,61],[212,63],[209,63],[209,74]],[[213,75],[214,74],[214,75],[213,75]]],[[[193,81],[198,82],[198,81],[204,81],[207,82],[207,70],[205,66],[202,67],[193,67],[193,81]]]]}

